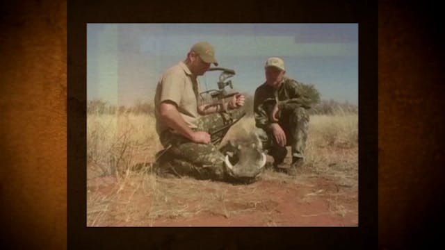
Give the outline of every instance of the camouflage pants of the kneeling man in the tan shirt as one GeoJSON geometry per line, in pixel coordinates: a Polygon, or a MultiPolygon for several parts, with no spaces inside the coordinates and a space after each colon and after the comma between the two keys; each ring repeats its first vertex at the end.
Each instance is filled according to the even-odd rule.
{"type": "Polygon", "coordinates": [[[225,156],[217,147],[229,128],[244,115],[244,109],[238,108],[228,113],[200,117],[197,128],[193,130],[209,133],[209,144],[195,143],[181,135],[164,131],[159,139],[164,147],[170,145],[170,148],[159,158],[156,172],[222,181],[225,178],[225,156]]]}

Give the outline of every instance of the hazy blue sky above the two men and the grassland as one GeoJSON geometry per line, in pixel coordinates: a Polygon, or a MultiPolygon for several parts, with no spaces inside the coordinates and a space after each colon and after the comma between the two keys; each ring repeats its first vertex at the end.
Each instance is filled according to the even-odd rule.
{"type": "MultiPolygon", "coordinates": [[[[253,94],[264,63],[280,56],[286,75],[314,84],[322,99],[358,103],[358,24],[88,24],[87,96],[119,105],[152,101],[168,67],[208,41],[234,88],[253,94]]],[[[200,77],[216,88],[217,72],[200,77]]]]}

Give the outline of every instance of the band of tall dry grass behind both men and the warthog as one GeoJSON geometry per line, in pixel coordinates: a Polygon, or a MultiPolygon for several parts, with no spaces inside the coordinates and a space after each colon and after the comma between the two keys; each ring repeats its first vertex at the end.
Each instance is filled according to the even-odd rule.
{"type": "MultiPolygon", "coordinates": [[[[253,117],[244,117],[227,133],[228,140],[252,140],[253,117]]],[[[307,140],[307,158],[316,162],[326,147],[351,149],[358,147],[358,115],[341,109],[334,115],[311,115],[307,140]]],[[[161,149],[153,115],[115,114],[88,115],[88,162],[102,169],[102,175],[127,171],[135,156],[142,151],[153,159],[161,149]]]]}

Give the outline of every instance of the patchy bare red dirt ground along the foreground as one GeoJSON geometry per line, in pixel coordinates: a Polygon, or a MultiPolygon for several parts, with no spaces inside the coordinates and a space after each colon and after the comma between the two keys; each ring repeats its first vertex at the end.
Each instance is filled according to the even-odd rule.
{"type": "MultiPolygon", "coordinates": [[[[159,178],[159,177],[156,177],[159,178]]],[[[199,182],[199,181],[197,181],[199,182]]],[[[101,194],[113,194],[117,185],[115,178],[97,177],[88,181],[88,189],[94,188],[101,194]]],[[[197,183],[199,185],[199,183],[197,183]]],[[[339,187],[330,178],[317,176],[296,183],[281,180],[259,180],[243,187],[256,192],[259,202],[235,202],[234,197],[240,185],[218,183],[227,189],[226,211],[248,210],[248,213],[221,213],[204,210],[192,217],[157,217],[137,221],[123,219],[124,213],[117,206],[111,206],[110,215],[106,216],[99,226],[358,226],[358,194],[357,190],[339,187]],[[317,192],[318,191],[318,192],[317,192]],[[232,201],[231,201],[232,200],[232,201]],[[253,208],[253,209],[252,209],[253,208]],[[342,212],[343,211],[343,212],[342,212]]],[[[213,190],[214,191],[214,190],[213,190]]],[[[211,189],[200,190],[202,195],[210,194],[211,189]]],[[[120,194],[128,196],[127,189],[120,194]]],[[[193,200],[184,198],[181,202],[193,207],[193,200]]],[[[131,198],[131,206],[147,207],[150,201],[146,194],[135,193],[131,198]]]]}

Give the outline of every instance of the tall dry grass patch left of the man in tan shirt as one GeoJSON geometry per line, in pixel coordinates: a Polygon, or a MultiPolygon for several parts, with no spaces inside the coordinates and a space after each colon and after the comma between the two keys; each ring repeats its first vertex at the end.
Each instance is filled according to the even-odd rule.
{"type": "Polygon", "coordinates": [[[152,115],[88,115],[88,163],[102,175],[122,174],[134,165],[134,156],[161,149],[152,115]]]}

